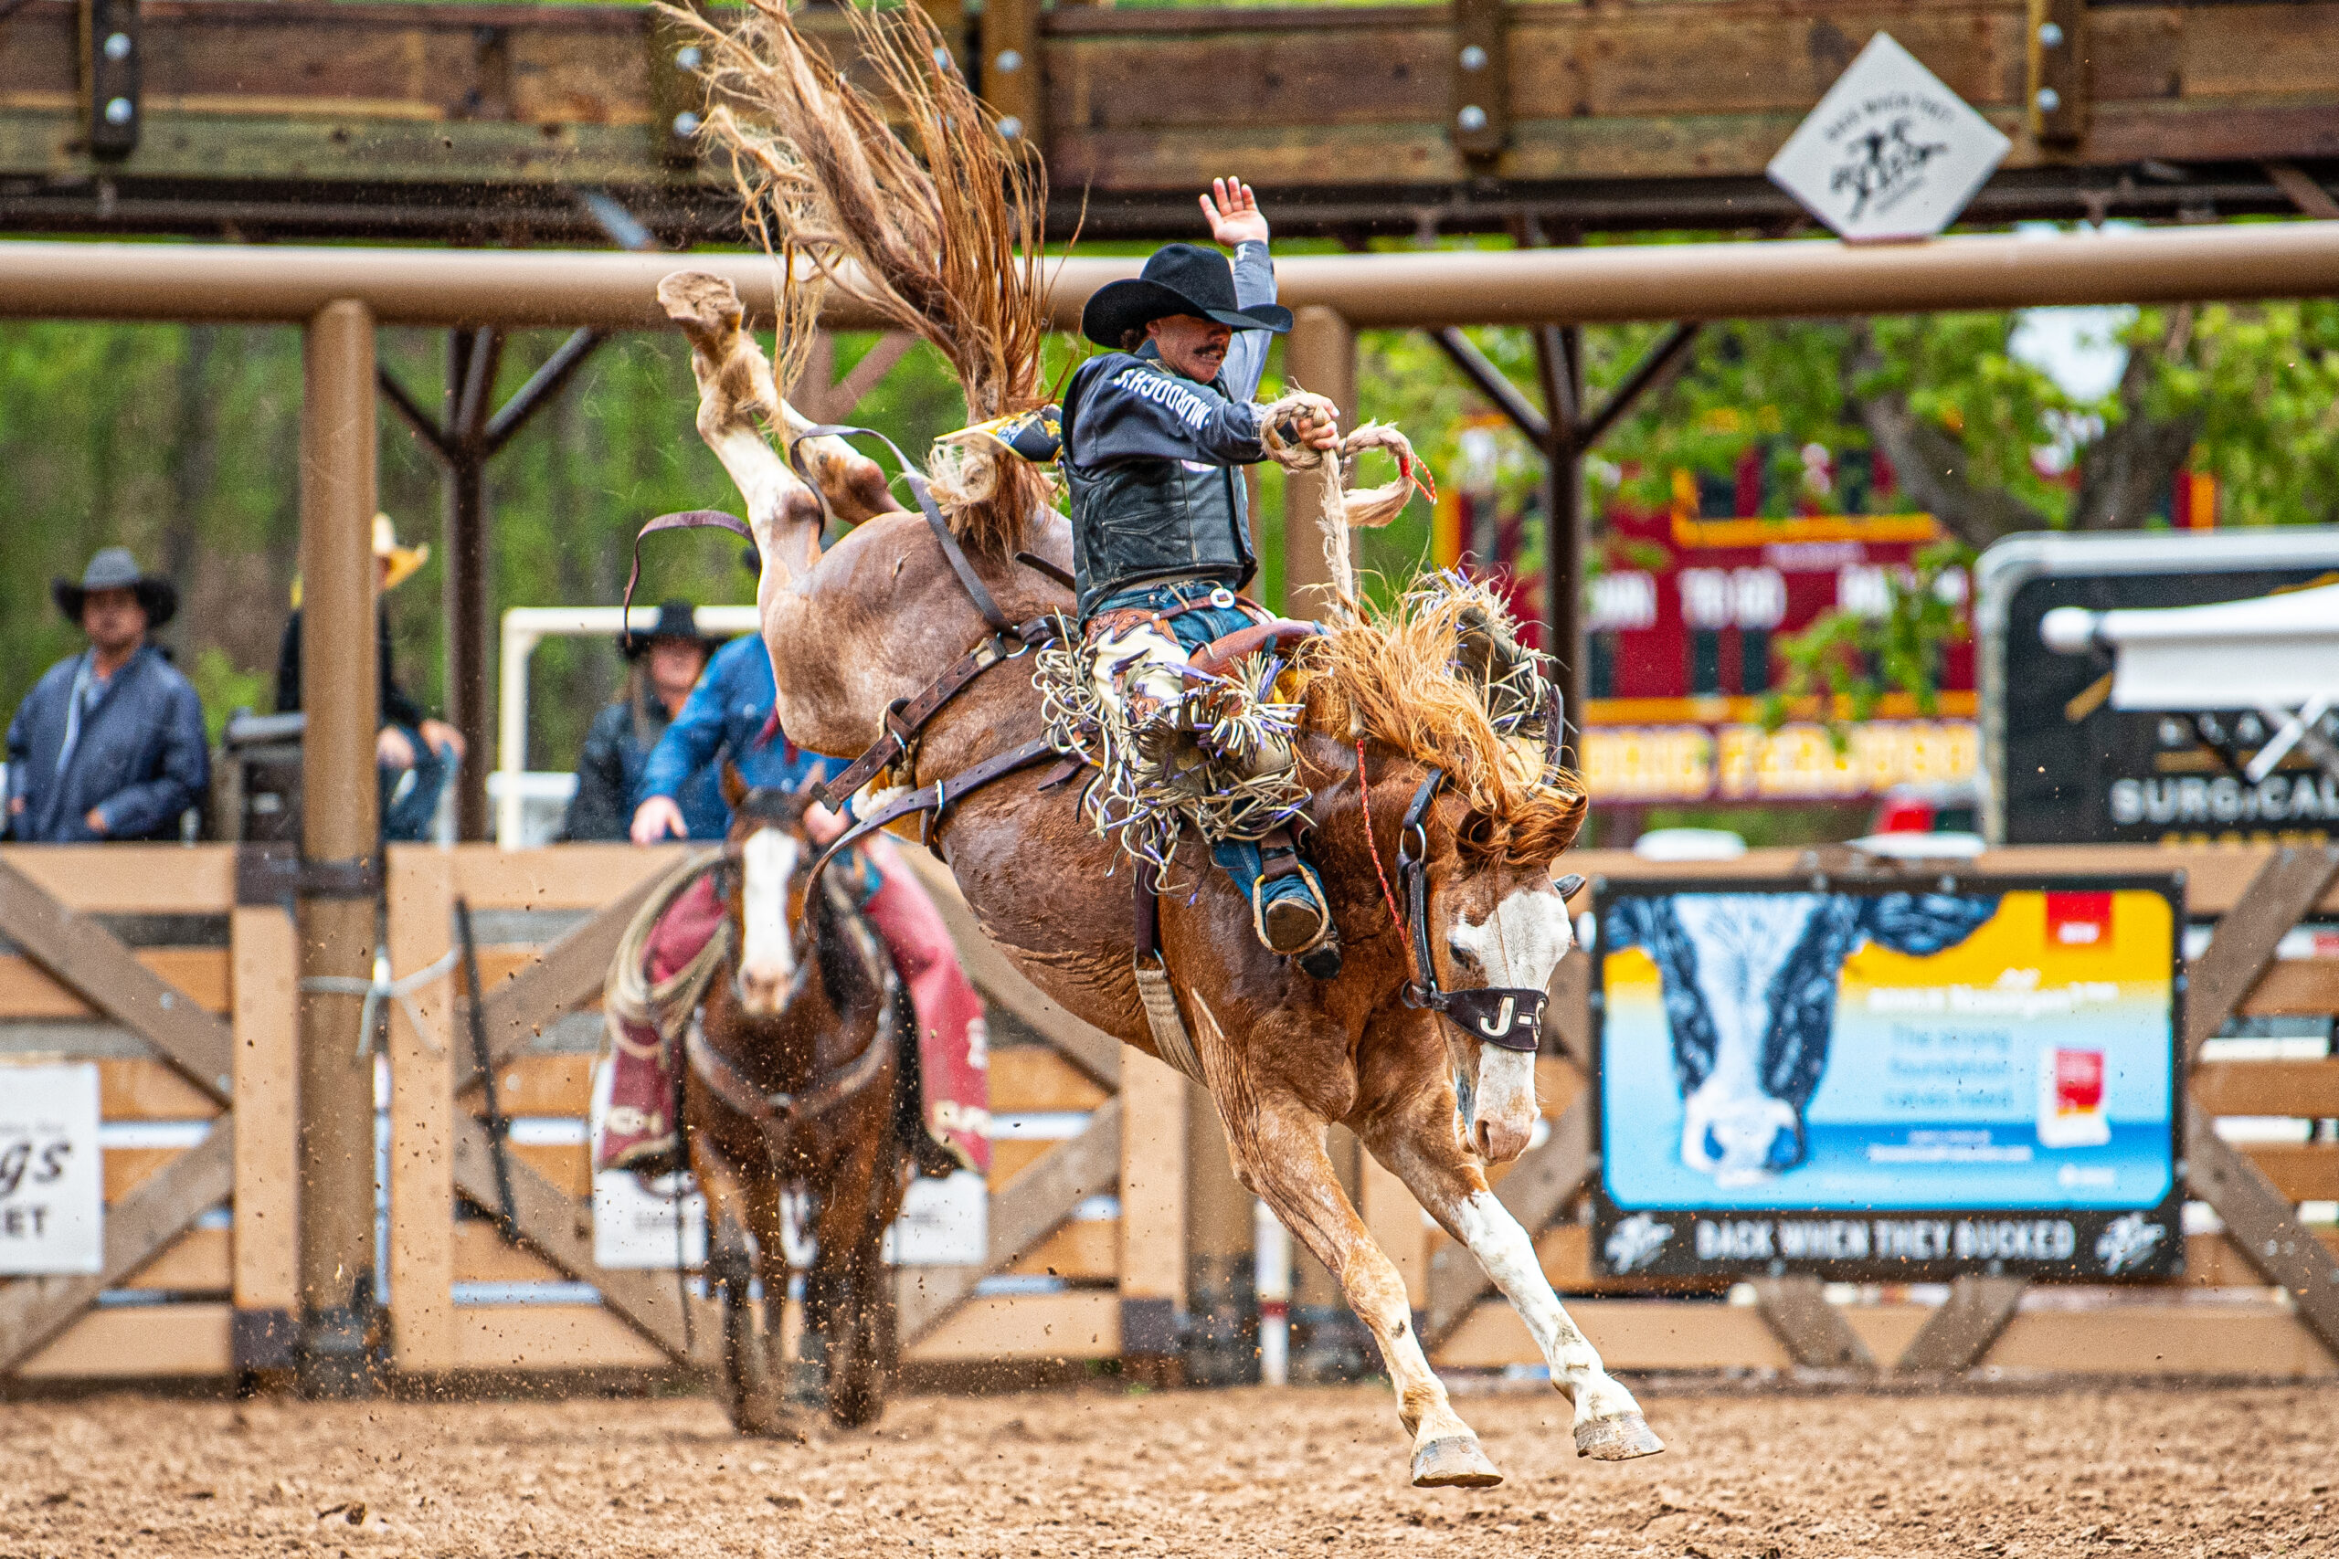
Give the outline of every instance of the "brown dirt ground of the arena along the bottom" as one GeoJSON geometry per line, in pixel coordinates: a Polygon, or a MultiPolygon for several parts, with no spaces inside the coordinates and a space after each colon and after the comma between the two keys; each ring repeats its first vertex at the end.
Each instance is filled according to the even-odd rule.
{"type": "Polygon", "coordinates": [[[1509,1473],[1427,1494],[1378,1391],[908,1398],[734,1440],[711,1400],[0,1407],[0,1554],[2339,1554],[2339,1391],[1661,1395],[1576,1461],[1548,1393],[1464,1398],[1509,1473]]]}

